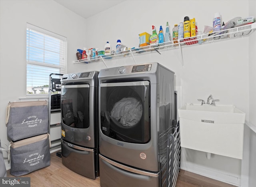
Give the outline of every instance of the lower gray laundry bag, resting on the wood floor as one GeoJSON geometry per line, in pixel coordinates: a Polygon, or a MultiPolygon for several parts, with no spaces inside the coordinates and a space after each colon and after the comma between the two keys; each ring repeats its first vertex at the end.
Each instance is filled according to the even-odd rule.
{"type": "Polygon", "coordinates": [[[11,170],[15,177],[50,165],[50,135],[22,139],[12,142],[10,147],[11,170]]]}

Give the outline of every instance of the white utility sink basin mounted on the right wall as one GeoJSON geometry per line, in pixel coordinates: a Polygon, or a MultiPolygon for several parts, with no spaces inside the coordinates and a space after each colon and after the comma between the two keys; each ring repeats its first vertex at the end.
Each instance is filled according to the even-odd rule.
{"type": "Polygon", "coordinates": [[[178,109],[181,147],[242,159],[245,113],[232,105],[178,109]]]}

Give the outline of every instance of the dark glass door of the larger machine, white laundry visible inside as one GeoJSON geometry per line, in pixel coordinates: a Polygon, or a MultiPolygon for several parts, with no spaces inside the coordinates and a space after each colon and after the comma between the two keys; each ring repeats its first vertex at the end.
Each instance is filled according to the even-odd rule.
{"type": "Polygon", "coordinates": [[[100,127],[104,135],[129,143],[147,143],[149,114],[149,81],[100,84],[100,127]]]}

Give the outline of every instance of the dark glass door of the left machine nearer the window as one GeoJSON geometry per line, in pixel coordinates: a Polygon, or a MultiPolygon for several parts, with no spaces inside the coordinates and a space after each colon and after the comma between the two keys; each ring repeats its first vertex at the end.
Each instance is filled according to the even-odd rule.
{"type": "Polygon", "coordinates": [[[89,127],[89,85],[63,85],[61,89],[62,123],[74,128],[89,127]]]}

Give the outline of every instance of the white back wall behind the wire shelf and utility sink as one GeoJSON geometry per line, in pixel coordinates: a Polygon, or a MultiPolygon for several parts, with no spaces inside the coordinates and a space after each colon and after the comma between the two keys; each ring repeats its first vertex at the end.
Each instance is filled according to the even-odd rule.
{"type": "MultiPolygon", "coordinates": [[[[156,26],[158,31],[162,25],[165,30],[168,21],[172,29],[184,16],[189,16],[196,18],[198,29],[203,31],[204,26],[212,26],[215,12],[220,12],[223,21],[227,22],[237,16],[249,16],[248,7],[249,1],[244,0],[125,1],[86,20],[88,27],[85,47],[102,50],[108,41],[114,48],[118,39],[129,48],[138,47],[138,34],[151,34],[152,25],[156,26]]],[[[251,8],[254,11],[256,9],[255,6],[251,8]]],[[[253,34],[255,36],[255,33],[253,34]]],[[[244,37],[183,48],[184,69],[180,64],[178,49],[161,52],[161,55],[152,53],[135,56],[135,59],[137,63],[159,62],[173,70],[176,86],[182,86],[182,105],[198,103],[197,99],[206,99],[212,94],[214,99],[220,99],[217,104],[233,104],[244,111],[248,121],[249,41],[249,37],[244,37]]],[[[108,67],[114,67],[134,64],[134,61],[130,57],[107,61],[106,64],[108,67]]],[[[102,62],[84,66],[86,70],[104,68],[102,62]]],[[[250,80],[253,81],[251,77],[250,80]]],[[[204,152],[182,149],[181,161],[182,169],[234,185],[241,184],[242,161],[239,159],[212,155],[212,158],[207,160],[204,152]]]]}

